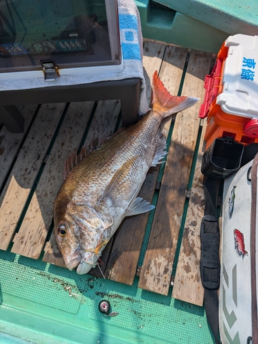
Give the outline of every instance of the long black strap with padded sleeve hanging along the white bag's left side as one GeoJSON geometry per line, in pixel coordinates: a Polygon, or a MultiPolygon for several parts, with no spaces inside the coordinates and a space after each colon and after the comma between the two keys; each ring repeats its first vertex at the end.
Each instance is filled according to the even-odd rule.
{"type": "Polygon", "coordinates": [[[204,217],[201,226],[200,272],[204,286],[204,308],[207,321],[213,332],[215,343],[220,343],[219,300],[220,288],[220,230],[216,210],[216,200],[220,180],[204,177],[204,217]]]}

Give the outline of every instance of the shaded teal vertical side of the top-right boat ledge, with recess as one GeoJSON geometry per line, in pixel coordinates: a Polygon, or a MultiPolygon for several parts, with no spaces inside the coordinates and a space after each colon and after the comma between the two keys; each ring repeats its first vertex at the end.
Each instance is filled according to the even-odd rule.
{"type": "MultiPolygon", "coordinates": [[[[145,39],[217,54],[228,37],[228,33],[222,28],[198,20],[189,13],[185,14],[184,10],[177,10],[169,1],[165,3],[167,6],[160,6],[161,8],[157,7],[158,1],[134,1],[139,10],[141,30],[145,39]]],[[[179,4],[180,1],[180,7],[179,4]]]]}

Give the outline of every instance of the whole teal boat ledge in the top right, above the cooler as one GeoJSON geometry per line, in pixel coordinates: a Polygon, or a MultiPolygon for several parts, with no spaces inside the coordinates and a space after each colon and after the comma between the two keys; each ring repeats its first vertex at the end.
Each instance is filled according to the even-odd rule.
{"type": "Polygon", "coordinates": [[[233,34],[258,34],[256,0],[134,0],[145,39],[217,54],[233,34]]]}

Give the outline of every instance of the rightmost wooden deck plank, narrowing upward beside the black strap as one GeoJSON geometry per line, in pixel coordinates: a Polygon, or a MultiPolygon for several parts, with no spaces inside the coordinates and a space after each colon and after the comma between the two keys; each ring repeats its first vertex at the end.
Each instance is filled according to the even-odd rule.
{"type": "Polygon", "coordinates": [[[175,299],[200,306],[202,306],[204,297],[200,279],[200,224],[204,215],[204,193],[202,188],[204,176],[200,169],[203,155],[202,142],[206,127],[207,121],[204,121],[172,292],[172,297],[175,299]]]}

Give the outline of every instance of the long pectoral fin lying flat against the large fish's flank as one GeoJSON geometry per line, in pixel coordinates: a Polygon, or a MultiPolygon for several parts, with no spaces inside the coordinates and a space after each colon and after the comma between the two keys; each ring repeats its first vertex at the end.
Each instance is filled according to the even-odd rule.
{"type": "Polygon", "coordinates": [[[138,157],[139,155],[130,158],[115,172],[102,197],[97,202],[98,204],[103,204],[108,199],[111,202],[111,206],[123,206],[123,200],[121,200],[119,195],[121,195],[122,188],[130,188],[130,179],[128,176],[131,173],[130,170],[132,169],[132,166],[138,157]]]}

